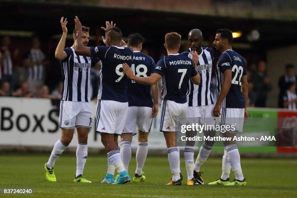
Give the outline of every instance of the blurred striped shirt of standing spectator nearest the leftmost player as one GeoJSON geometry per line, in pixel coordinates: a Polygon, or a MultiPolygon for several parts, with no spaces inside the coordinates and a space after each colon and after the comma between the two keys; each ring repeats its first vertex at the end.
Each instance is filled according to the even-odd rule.
{"type": "MultiPolygon", "coordinates": [[[[45,55],[40,49],[30,49],[30,51],[25,56],[32,62],[43,61],[45,59],[45,55]]],[[[42,64],[33,65],[28,68],[28,74],[28,80],[43,81],[45,76],[45,66],[42,64]]]]}

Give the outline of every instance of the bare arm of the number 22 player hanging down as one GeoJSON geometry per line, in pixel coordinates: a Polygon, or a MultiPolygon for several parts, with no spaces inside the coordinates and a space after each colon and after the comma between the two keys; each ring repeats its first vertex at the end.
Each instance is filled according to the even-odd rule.
{"type": "Polygon", "coordinates": [[[218,117],[221,115],[221,104],[222,101],[226,98],[229,89],[231,87],[231,78],[232,78],[232,71],[231,69],[226,69],[223,73],[223,84],[222,84],[222,88],[220,91],[220,94],[217,98],[216,104],[214,105],[214,110],[213,110],[213,114],[215,117],[218,117]]]}

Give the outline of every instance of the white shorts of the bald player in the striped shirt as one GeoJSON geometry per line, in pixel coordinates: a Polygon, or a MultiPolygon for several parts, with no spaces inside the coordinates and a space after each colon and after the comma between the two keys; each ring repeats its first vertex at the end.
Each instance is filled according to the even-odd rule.
{"type": "Polygon", "coordinates": [[[194,121],[201,125],[215,124],[213,110],[214,110],[214,104],[188,107],[188,118],[191,119],[191,121],[194,121]]]}

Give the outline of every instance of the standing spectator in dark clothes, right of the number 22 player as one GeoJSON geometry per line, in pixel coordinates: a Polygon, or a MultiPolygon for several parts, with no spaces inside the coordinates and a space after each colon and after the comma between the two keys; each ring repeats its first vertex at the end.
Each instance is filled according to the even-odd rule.
{"type": "Polygon", "coordinates": [[[266,63],[259,61],[257,66],[257,72],[251,77],[253,83],[253,90],[256,94],[256,107],[266,107],[267,94],[272,89],[270,79],[266,73],[266,63]]]}

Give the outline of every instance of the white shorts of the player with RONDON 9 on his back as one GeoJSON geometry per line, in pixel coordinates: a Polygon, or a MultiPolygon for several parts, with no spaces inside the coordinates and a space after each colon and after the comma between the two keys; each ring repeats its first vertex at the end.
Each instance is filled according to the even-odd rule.
{"type": "Polygon", "coordinates": [[[122,134],[128,111],[128,102],[98,100],[96,132],[122,134]]]}

